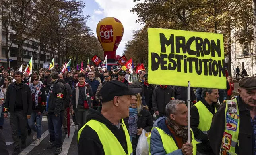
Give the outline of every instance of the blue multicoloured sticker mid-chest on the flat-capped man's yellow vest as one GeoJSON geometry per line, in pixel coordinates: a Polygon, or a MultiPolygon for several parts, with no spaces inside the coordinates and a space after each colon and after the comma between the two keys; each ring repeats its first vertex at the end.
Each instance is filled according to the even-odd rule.
{"type": "Polygon", "coordinates": [[[236,113],[227,113],[226,129],[231,131],[237,131],[238,118],[239,115],[237,115],[236,113]]]}

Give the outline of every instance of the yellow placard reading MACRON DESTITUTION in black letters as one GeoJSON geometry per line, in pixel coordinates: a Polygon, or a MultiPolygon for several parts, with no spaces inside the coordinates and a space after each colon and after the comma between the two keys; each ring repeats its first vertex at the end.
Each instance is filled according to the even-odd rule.
{"type": "Polygon", "coordinates": [[[223,35],[148,29],[148,81],[226,89],[223,35]]]}

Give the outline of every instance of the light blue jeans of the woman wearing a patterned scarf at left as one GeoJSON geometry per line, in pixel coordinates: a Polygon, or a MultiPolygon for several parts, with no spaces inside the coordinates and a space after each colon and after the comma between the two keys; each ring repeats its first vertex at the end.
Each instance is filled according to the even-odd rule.
{"type": "Polygon", "coordinates": [[[41,115],[39,115],[39,118],[37,118],[37,115],[39,115],[37,112],[33,111],[31,113],[31,117],[28,120],[29,121],[29,127],[34,131],[37,132],[37,139],[41,138],[41,134],[42,134],[42,118],[43,118],[43,114],[41,113],[41,115]],[[36,118],[36,122],[37,125],[35,125],[35,118],[36,118]]]}

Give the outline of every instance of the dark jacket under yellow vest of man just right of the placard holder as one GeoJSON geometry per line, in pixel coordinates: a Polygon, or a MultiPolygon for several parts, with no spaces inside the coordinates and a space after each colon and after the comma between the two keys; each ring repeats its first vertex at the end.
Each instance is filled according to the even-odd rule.
{"type": "MultiPolygon", "coordinates": [[[[214,103],[209,105],[204,98],[200,101],[206,106],[206,108],[209,110],[209,112],[211,112],[214,115],[214,113],[215,113],[214,106],[217,107],[217,105],[214,103]]],[[[198,129],[199,113],[198,113],[198,109],[196,108],[196,106],[191,107],[190,115],[191,115],[191,121],[190,121],[191,128],[194,132],[194,137],[196,139],[202,141],[202,143],[196,144],[197,151],[199,151],[200,153],[203,153],[203,154],[207,154],[207,155],[213,154],[207,134],[204,134],[201,130],[198,129]]]]}

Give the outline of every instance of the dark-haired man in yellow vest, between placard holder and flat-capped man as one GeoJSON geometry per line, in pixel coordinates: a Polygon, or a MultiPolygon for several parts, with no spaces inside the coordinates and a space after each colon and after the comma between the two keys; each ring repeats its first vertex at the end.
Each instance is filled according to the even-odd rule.
{"type": "Polygon", "coordinates": [[[217,112],[216,102],[219,98],[218,89],[203,88],[203,99],[191,107],[191,128],[194,131],[197,144],[197,155],[214,155],[207,133],[211,119],[217,112]]]}

